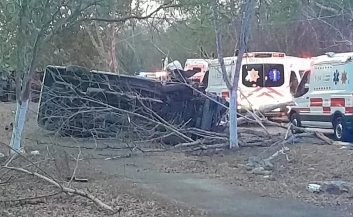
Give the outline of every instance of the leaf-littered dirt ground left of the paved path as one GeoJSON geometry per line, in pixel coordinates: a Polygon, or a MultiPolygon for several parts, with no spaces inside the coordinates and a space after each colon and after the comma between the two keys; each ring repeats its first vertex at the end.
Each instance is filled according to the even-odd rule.
{"type": "MultiPolygon", "coordinates": [[[[39,151],[40,155],[25,154],[27,159],[16,159],[11,163],[11,166],[23,167],[33,172],[37,171],[58,178],[58,180],[70,178],[76,166],[76,161],[72,157],[76,157],[78,151],[77,149],[64,148],[64,146],[75,148],[77,144],[83,144],[84,146],[85,142],[73,138],[58,138],[50,135],[50,132],[38,128],[35,120],[36,110],[36,105],[31,104],[27,113],[27,124],[22,144],[26,153],[39,151]],[[69,156],[63,150],[68,152],[69,156]],[[35,168],[33,162],[43,171],[35,168]]],[[[11,127],[9,126],[14,119],[15,105],[0,104],[0,111],[0,141],[9,144],[11,138],[11,127]]],[[[89,144],[94,146],[92,143],[89,144]]],[[[0,145],[0,152],[7,154],[8,151],[5,146],[0,145]]],[[[119,151],[119,153],[121,152],[119,151]]],[[[103,159],[107,157],[104,155],[96,154],[103,159]]],[[[88,160],[80,161],[76,171],[76,177],[87,177],[89,182],[73,182],[71,187],[90,192],[107,205],[112,206],[116,211],[121,209],[114,216],[208,216],[203,210],[175,204],[175,202],[153,195],[149,191],[141,192],[135,188],[134,183],[126,179],[126,174],[107,174],[101,168],[96,167],[96,164],[89,162],[90,158],[94,158],[91,152],[82,149],[80,159],[88,160]]],[[[0,164],[3,165],[4,162],[0,162],[0,164]]],[[[92,201],[82,196],[60,193],[60,189],[39,178],[5,169],[0,169],[0,192],[1,217],[111,216],[111,213],[102,210],[92,201]],[[31,197],[34,199],[28,199],[31,197]]]]}

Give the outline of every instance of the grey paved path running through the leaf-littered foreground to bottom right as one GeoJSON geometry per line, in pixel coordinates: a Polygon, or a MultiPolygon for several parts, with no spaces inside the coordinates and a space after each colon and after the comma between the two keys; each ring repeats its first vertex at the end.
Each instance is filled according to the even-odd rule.
{"type": "Polygon", "coordinates": [[[163,174],[152,170],[146,157],[124,161],[96,161],[109,174],[125,174],[142,190],[154,192],[166,200],[207,210],[214,217],[348,217],[306,203],[260,197],[235,190],[217,180],[192,174],[163,174]],[[124,162],[124,163],[123,163],[124,162]],[[134,164],[137,167],[124,167],[134,164]]]}

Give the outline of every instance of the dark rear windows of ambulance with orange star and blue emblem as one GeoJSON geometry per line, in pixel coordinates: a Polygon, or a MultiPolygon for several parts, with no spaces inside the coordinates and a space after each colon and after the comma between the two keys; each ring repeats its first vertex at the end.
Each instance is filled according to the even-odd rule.
{"type": "Polygon", "coordinates": [[[249,64],[242,67],[242,82],[246,87],[280,87],[284,84],[281,64],[249,64]]]}

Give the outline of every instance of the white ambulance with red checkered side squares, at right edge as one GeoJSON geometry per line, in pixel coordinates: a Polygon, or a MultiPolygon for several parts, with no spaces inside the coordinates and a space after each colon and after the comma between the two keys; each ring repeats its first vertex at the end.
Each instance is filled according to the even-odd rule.
{"type": "MultiPolygon", "coordinates": [[[[353,52],[313,59],[295,93],[290,121],[295,126],[333,129],[336,139],[353,139],[353,52]]],[[[296,130],[293,130],[295,133],[296,130]]]]}

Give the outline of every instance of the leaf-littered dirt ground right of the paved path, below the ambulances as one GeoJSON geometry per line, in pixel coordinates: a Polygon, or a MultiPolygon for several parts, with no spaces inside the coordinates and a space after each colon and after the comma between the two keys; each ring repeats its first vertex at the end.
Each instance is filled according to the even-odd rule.
{"type": "Polygon", "coordinates": [[[261,196],[295,199],[334,210],[352,210],[352,194],[314,194],[306,188],[310,182],[316,181],[351,182],[353,150],[314,144],[291,144],[286,147],[290,151],[286,152],[287,156],[282,154],[272,161],[274,172],[269,177],[247,171],[247,160],[252,156],[269,157],[281,146],[242,148],[239,152],[227,150],[209,156],[165,152],[152,158],[163,173],[204,174],[236,188],[242,186],[261,196]]]}

